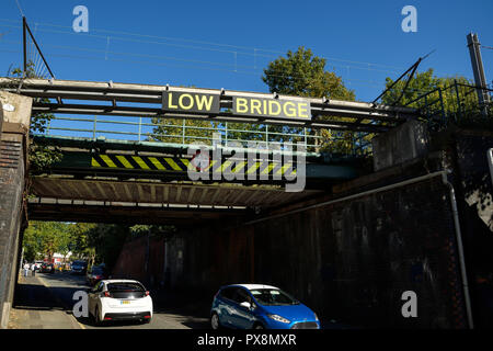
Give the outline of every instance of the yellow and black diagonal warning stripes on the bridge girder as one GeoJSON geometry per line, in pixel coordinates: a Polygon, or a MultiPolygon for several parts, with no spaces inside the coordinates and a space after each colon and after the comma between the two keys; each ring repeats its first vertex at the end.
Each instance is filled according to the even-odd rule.
{"type": "MultiPolygon", "coordinates": [[[[106,169],[127,169],[127,170],[145,170],[145,171],[174,171],[186,172],[188,167],[195,170],[194,166],[187,158],[181,157],[154,157],[154,156],[130,156],[130,155],[92,155],[91,167],[106,169]]],[[[294,162],[279,163],[274,161],[232,161],[210,160],[210,163],[203,171],[213,173],[244,173],[260,174],[265,177],[273,176],[295,176],[296,167],[294,162]]]]}

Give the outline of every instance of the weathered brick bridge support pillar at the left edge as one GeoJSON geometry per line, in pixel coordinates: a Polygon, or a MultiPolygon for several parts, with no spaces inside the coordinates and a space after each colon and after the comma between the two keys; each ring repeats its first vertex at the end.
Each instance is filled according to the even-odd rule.
{"type": "Polygon", "coordinates": [[[0,91],[0,329],[9,322],[20,269],[32,99],[0,91]]]}

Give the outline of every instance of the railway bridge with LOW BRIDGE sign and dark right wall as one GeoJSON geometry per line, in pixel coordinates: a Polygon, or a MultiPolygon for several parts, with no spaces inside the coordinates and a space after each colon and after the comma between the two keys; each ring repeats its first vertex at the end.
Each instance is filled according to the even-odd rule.
{"type": "Polygon", "coordinates": [[[449,159],[423,110],[112,81],[0,87],[3,327],[30,219],[172,224],[184,228],[167,242],[172,282],[276,282],[359,322],[472,326],[449,159]],[[55,162],[30,163],[47,150],[55,162]],[[419,321],[398,313],[409,290],[419,321]]]}

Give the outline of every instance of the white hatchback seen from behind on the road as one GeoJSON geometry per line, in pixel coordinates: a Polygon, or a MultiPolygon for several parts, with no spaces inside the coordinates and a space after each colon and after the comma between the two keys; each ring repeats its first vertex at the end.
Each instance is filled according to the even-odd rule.
{"type": "Polygon", "coordinates": [[[89,314],[96,324],[106,320],[150,322],[152,298],[138,281],[102,280],[89,291],[89,314]]]}

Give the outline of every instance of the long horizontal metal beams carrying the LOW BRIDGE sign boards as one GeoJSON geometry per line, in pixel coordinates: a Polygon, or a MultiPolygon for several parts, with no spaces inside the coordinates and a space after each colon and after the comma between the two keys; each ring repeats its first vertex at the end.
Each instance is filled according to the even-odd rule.
{"type": "Polygon", "coordinates": [[[307,121],[286,116],[265,117],[238,115],[231,112],[234,98],[273,99],[273,94],[240,92],[219,89],[197,89],[169,86],[129,84],[115,82],[91,82],[71,80],[0,78],[0,87],[32,98],[54,101],[35,101],[34,113],[64,113],[117,116],[167,116],[174,118],[198,118],[222,122],[245,122],[261,124],[280,124],[310,126],[356,132],[386,132],[393,126],[415,118],[416,110],[387,106],[365,102],[347,102],[328,99],[276,95],[278,101],[303,101],[309,105],[311,117],[307,121]],[[216,94],[220,97],[219,112],[164,112],[163,93],[216,94]],[[71,101],[68,103],[68,101],[71,101]],[[89,103],[88,103],[89,102],[89,103]],[[326,120],[321,116],[347,117],[348,121],[326,120]]]}

